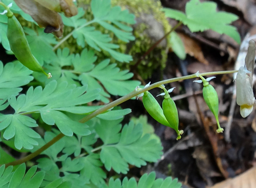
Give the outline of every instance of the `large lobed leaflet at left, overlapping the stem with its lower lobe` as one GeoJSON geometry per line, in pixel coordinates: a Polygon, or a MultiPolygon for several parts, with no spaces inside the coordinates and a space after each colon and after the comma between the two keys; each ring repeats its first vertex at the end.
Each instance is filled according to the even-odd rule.
{"type": "Polygon", "coordinates": [[[30,87],[27,95],[22,94],[17,100],[13,96],[9,99],[9,103],[17,114],[21,112],[40,113],[42,120],[46,124],[56,124],[59,130],[66,136],[72,136],[74,132],[80,135],[88,135],[90,134],[89,129],[87,129],[88,126],[71,120],[63,113],[64,111],[85,114],[94,111],[95,108],[78,106],[97,99],[97,89],[89,92],[86,92],[86,90],[86,85],[76,87],[76,85],[68,85],[67,82],[57,84],[57,81],[52,81],[44,89],[41,86],[35,89],[30,87]]]}

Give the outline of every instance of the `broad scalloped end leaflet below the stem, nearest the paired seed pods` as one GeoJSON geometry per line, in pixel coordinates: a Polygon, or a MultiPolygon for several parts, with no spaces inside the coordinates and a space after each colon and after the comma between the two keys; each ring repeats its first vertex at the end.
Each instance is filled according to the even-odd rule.
{"type": "Polygon", "coordinates": [[[104,142],[100,160],[108,171],[113,168],[118,173],[127,173],[128,163],[140,167],[146,165],[146,161],[156,162],[160,158],[160,143],[150,139],[149,134],[142,137],[141,124],[134,125],[131,121],[123,127],[121,133],[118,133],[120,126],[117,127],[117,124],[108,125],[102,123],[96,127],[96,132],[104,142]],[[105,131],[108,133],[103,135],[105,131]]]}

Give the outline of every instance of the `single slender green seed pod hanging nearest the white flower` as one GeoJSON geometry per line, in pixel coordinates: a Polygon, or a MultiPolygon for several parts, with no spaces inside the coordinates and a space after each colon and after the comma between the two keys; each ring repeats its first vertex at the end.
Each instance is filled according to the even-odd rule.
{"type": "Polygon", "coordinates": [[[204,82],[203,85],[204,85],[204,87],[203,87],[204,101],[215,116],[215,119],[216,119],[217,125],[218,125],[217,133],[222,133],[223,128],[220,127],[219,121],[218,121],[218,95],[217,95],[217,92],[212,85],[209,85],[208,82],[204,82]]]}

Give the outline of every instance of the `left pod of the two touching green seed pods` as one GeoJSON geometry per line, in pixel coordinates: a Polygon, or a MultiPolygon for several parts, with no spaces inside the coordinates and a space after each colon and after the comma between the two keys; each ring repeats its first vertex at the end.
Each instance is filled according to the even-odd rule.
{"type": "Polygon", "coordinates": [[[166,120],[163,110],[161,106],[159,105],[158,101],[155,99],[155,97],[148,91],[146,91],[142,98],[143,105],[147,112],[149,113],[152,118],[157,120],[159,123],[170,126],[168,121],[166,120]]]}

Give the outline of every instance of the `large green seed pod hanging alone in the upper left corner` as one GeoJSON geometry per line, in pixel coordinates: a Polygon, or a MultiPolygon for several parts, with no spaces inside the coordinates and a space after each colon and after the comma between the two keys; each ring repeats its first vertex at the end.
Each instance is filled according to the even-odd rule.
{"type": "Polygon", "coordinates": [[[20,63],[30,70],[42,72],[48,78],[51,78],[51,73],[47,74],[40,66],[38,60],[32,54],[20,22],[10,11],[9,6],[6,6],[3,3],[0,3],[0,5],[4,6],[7,11],[7,38],[10,43],[10,48],[15,54],[16,58],[20,61],[20,63]]]}

